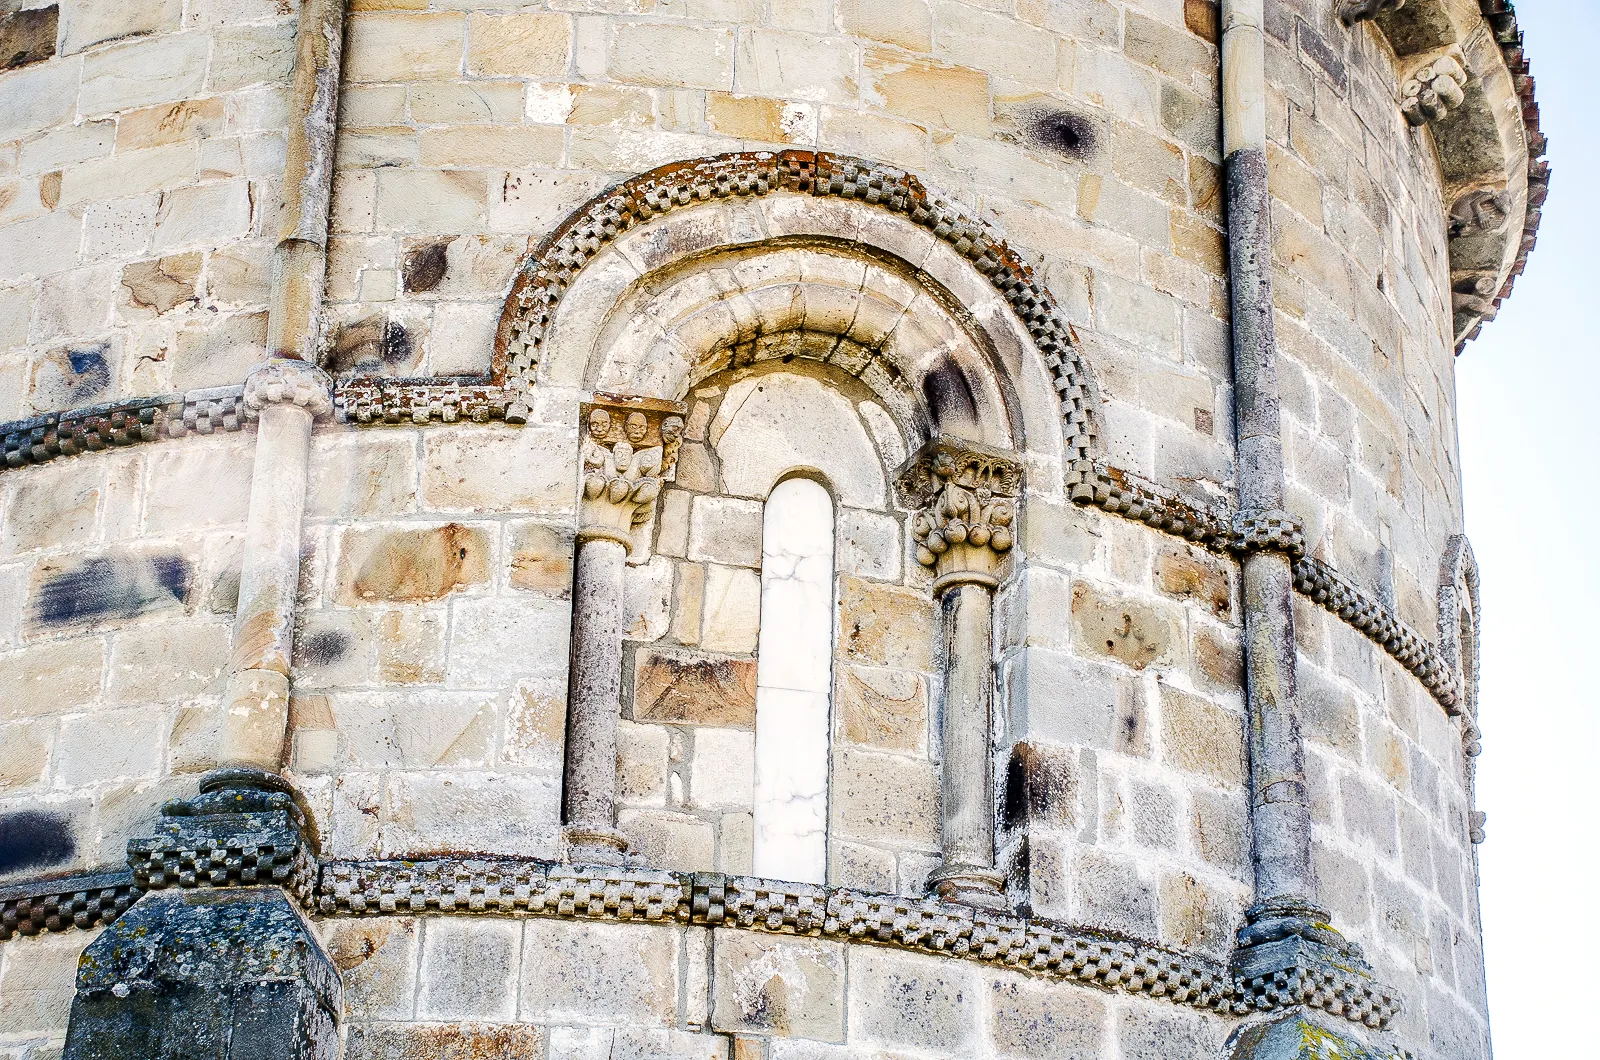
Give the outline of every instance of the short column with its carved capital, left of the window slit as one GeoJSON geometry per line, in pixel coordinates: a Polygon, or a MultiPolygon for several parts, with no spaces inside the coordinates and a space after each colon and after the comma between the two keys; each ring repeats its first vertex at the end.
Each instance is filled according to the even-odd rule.
{"type": "Polygon", "coordinates": [[[568,857],[618,865],[616,722],[622,709],[622,572],[677,471],[683,405],[595,394],[581,405],[578,560],[562,815],[568,857]]]}

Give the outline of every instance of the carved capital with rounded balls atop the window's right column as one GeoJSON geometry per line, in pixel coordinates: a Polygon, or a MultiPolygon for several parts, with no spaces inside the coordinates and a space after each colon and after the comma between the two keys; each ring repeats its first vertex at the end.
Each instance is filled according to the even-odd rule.
{"type": "Polygon", "coordinates": [[[917,562],[934,573],[934,592],[952,584],[1000,584],[1016,541],[1022,464],[1000,450],[933,439],[894,484],[901,504],[915,509],[917,562]]]}

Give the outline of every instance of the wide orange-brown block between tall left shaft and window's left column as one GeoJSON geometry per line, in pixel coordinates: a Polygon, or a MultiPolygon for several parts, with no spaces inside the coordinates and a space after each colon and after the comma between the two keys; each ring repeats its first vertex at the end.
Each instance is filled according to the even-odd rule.
{"type": "Polygon", "coordinates": [[[339,604],[442,600],[490,578],[490,532],[446,522],[419,530],[350,527],[339,535],[339,604]]]}

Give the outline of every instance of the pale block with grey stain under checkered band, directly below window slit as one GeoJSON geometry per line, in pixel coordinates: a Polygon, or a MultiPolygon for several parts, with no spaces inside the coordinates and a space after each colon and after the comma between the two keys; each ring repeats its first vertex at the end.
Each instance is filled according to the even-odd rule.
{"type": "Polygon", "coordinates": [[[845,946],[718,930],[712,1028],[779,1038],[845,1039],[845,946]]]}

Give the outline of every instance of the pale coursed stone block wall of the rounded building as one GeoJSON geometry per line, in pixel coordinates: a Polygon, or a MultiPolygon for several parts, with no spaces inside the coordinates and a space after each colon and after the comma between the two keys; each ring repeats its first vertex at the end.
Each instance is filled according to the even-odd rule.
{"type": "MultiPolygon", "coordinates": [[[[1400,115],[1374,30],[1317,2],[1269,11],[1288,506],[1314,556],[1432,636],[1461,528],[1432,135],[1400,115]]],[[[0,72],[0,420],[242,381],[266,335],[294,5],[74,0],[56,18],[50,54],[0,72]]],[[[818,147],[904,167],[1002,226],[1099,381],[1106,458],[1226,504],[1216,38],[1203,0],[354,0],[323,363],[483,373],[514,271],[590,195],[685,159],[818,147]]],[[[952,287],[864,235],[824,242],[706,264],[686,239],[645,280],[616,279],[638,258],[608,251],[592,269],[616,272],[555,322],[566,376],[536,387],[525,426],[318,431],[286,761],[325,855],[562,857],[578,402],[646,378],[659,328],[693,365],[674,394],[690,415],[626,573],[619,826],[651,866],[750,871],[762,501],[803,468],[838,525],[829,877],[922,892],[938,615],[891,484],[920,440],[901,413],[933,399],[894,407],[850,343],[898,363],[1003,354],[968,263],[941,263],[952,287]],[[739,325],[758,354],[690,312],[707,291],[754,306],[739,325]]],[[[1054,402],[1027,354],[963,424],[1029,474],[997,597],[1002,868],[1035,916],[1226,959],[1251,900],[1237,567],[1067,501],[1059,440],[1027,429],[1054,402]]],[[[216,764],[251,456],[251,434],[221,434],[0,476],[0,821],[22,852],[0,879],[118,863],[216,764]]],[[[1406,998],[1406,1049],[1486,1055],[1459,730],[1346,623],[1301,600],[1296,628],[1334,925],[1406,998]]],[[[349,1057],[1131,1060],[1219,1055],[1230,1023],[731,929],[322,927],[349,1057]],[[907,996],[925,1004],[896,1010],[907,996]]],[[[0,1050],[59,1039],[86,940],[5,943],[0,1050]]]]}

